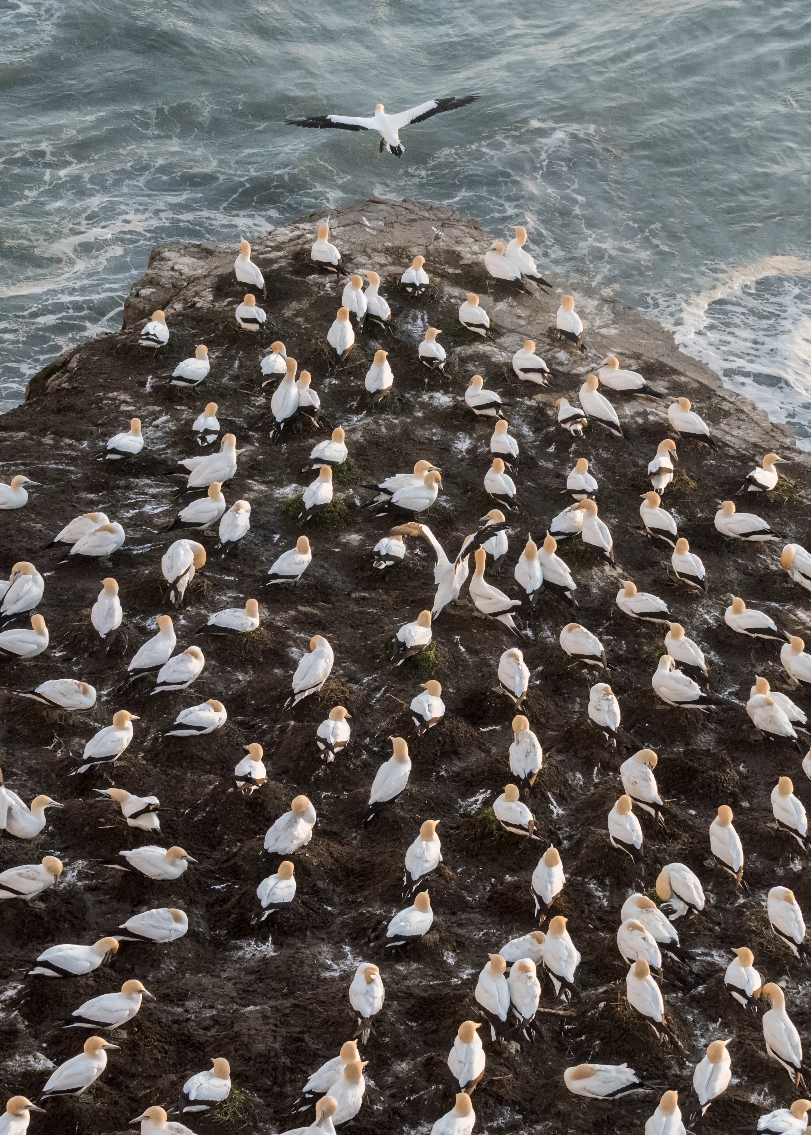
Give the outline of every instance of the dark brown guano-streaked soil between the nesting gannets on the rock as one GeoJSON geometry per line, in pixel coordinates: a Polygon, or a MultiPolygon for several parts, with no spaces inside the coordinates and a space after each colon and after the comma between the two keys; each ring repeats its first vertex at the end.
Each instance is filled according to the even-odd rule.
{"type": "MultiPolygon", "coordinates": [[[[660,1090],[678,1088],[686,1103],[693,1067],[718,1037],[734,1039],[735,1079],[703,1120],[701,1129],[708,1135],[754,1129],[760,1113],[787,1107],[800,1094],[784,1069],[767,1059],[760,1016],[745,1016],[727,998],[722,982],[731,949],[750,945],[763,977],[785,984],[788,1010],[811,1045],[806,972],[770,935],[764,918],[767,891],[778,883],[793,886],[801,907],[811,913],[811,884],[799,848],[769,826],[769,793],[780,774],[794,779],[808,805],[811,791],[799,755],[760,740],[744,709],[755,674],[767,676],[776,689],[787,689],[779,645],[742,639],[722,621],[727,596],[734,592],[769,609],[787,630],[802,631],[808,596],[779,570],[781,545],[733,545],[712,526],[717,502],[743,484],[763,453],[754,443],[749,452],[722,446],[717,454],[692,444],[678,446],[679,474],[663,504],[702,556],[710,579],[708,596],[685,594],[669,572],[669,553],[639,532],[645,466],[667,436],[660,420],[647,414],[644,402],[639,406],[616,400],[627,422],[626,440],[599,428],[580,442],[561,436],[550,407],[533,400],[536,388],[519,384],[495,363],[491,348],[485,351],[483,344],[477,355],[474,344],[463,364],[453,359],[463,333],[454,322],[459,297],[448,294],[443,279],[451,277],[443,271],[458,261],[452,252],[437,250],[428,267],[434,287],[423,306],[433,326],[452,331],[445,336],[451,360],[445,378],[419,367],[416,344],[421,335],[403,329],[415,301],[400,297],[391,277],[384,291],[393,309],[392,331],[378,334],[369,327],[334,372],[316,335],[323,338],[334,318],[337,293],[311,276],[307,258],[299,257],[287,270],[268,276],[268,323],[261,337],[236,327],[233,308],[242,288],[224,274],[208,280],[212,306],[187,306],[169,316],[172,338],[158,358],[137,347],[137,330],[94,340],[72,358],[72,370],[62,368],[64,381],[49,393],[40,384],[40,396],[0,419],[3,473],[25,472],[43,482],[24,510],[0,514],[3,571],[15,560],[28,558],[47,575],[40,611],[51,633],[51,648],[32,663],[2,663],[5,682],[31,688],[48,678],[75,675],[92,682],[100,695],[92,712],[74,717],[10,696],[3,699],[2,770],[8,787],[26,801],[47,792],[65,810],[49,813],[44,834],[31,843],[3,840],[0,869],[39,861],[45,854],[59,855],[66,867],[61,885],[41,905],[5,902],[0,909],[3,1099],[18,1092],[37,1098],[49,1073],[35,1070],[35,1053],[59,1063],[78,1051],[84,1034],[62,1032],[60,1022],[82,1001],[120,987],[128,977],[141,978],[158,999],[144,1002],[126,1027],[126,1037],[118,1042],[122,1051],[110,1053],[107,1071],[85,1100],[52,1101],[47,1117],[32,1119],[36,1135],[122,1132],[143,1108],[175,1101],[184,1079],[208,1068],[215,1056],[231,1061],[234,1084],[245,1093],[244,1108],[220,1125],[211,1117],[184,1117],[194,1132],[269,1133],[302,1123],[287,1117],[287,1109],[309,1074],[354,1033],[348,989],[363,959],[381,966],[386,1002],[362,1050],[369,1061],[368,1086],[353,1129],[360,1135],[427,1129],[452,1107],[454,1083],[445,1060],[459,1024],[478,1016],[474,989],[487,953],[534,928],[529,877],[550,842],[560,849],[567,874],[555,910],[568,917],[583,955],[576,980],[580,997],[561,1012],[565,1007],[555,1003],[546,981],[542,1036],[534,1048],[511,1045],[499,1052],[485,1040],[487,1068],[474,1096],[477,1130],[641,1130],[660,1090]],[[269,564],[301,535],[285,502],[315,478],[315,471],[301,470],[311,447],[328,436],[304,423],[271,446],[271,387],[258,394],[256,386],[261,350],[276,338],[301,369],[311,370],[326,418],[345,426],[353,465],[335,478],[341,507],[328,522],[306,530],[313,558],[301,585],[266,589],[269,564]],[[203,387],[178,394],[157,386],[159,376],[192,354],[198,343],[211,351],[203,387]],[[390,352],[399,415],[356,411],[368,361],[379,347],[390,352]],[[612,667],[609,680],[622,711],[616,749],[586,717],[588,688],[600,675],[569,666],[558,646],[562,625],[572,617],[570,608],[542,596],[536,617],[528,622],[530,634],[519,644],[533,673],[525,712],[545,751],[530,801],[541,842],[532,844],[503,833],[490,812],[510,780],[507,753],[513,711],[493,687],[499,657],[515,638],[499,623],[474,617],[467,591],[458,607],[445,609],[434,627],[436,651],[429,672],[442,682],[448,715],[417,741],[407,708],[428,676],[427,667],[415,661],[392,670],[390,642],[400,623],[430,606],[433,555],[427,545],[409,538],[404,564],[376,571],[371,549],[387,523],[359,507],[370,497],[360,486],[428,457],[443,470],[444,493],[427,522],[449,555],[455,554],[490,507],[483,478],[492,421],[474,419],[462,401],[475,370],[511,403],[511,430],[521,447],[516,476],[520,507],[510,516],[508,565],[494,582],[510,587],[527,532],[540,540],[552,516],[569,503],[561,489],[578,456],[588,457],[600,481],[600,512],[613,533],[619,568],[593,563],[579,541],[560,545],[559,554],[571,563],[578,583],[576,617],[601,638],[612,667]],[[432,392],[453,401],[425,401],[432,392]],[[182,485],[167,473],[177,469],[178,459],[192,454],[191,422],[211,398],[219,404],[223,431],[234,431],[239,446],[248,451],[224,491],[229,505],[240,497],[251,502],[251,531],[225,560],[215,552],[216,533],[202,537],[209,561],[200,586],[190,588],[186,605],[175,616],[178,648],[191,645],[209,613],[243,605],[250,597],[260,602],[262,628],[248,641],[194,638],[206,653],[206,670],[183,693],[151,698],[142,688],[126,697],[104,697],[127,658],[153,633],[157,614],[166,609],[159,563],[170,537],[160,527],[174,515],[174,493],[182,485]],[[144,423],[143,459],[115,469],[94,460],[92,454],[134,413],[144,423]],[[127,533],[111,569],[61,564],[58,549],[41,550],[70,518],[101,507],[127,533]],[[114,648],[104,656],[82,628],[89,625],[89,608],[108,574],[120,585],[128,641],[126,650],[114,648]],[[711,714],[668,709],[654,697],[650,679],[663,653],[664,628],[621,615],[613,598],[627,578],[666,598],[672,617],[704,648],[713,691],[722,699],[711,714]],[[285,712],[296,658],[316,633],[333,645],[333,675],[320,695],[285,712]],[[215,696],[228,711],[225,729],[202,739],[161,740],[182,706],[215,696]],[[324,765],[315,730],[336,704],[352,714],[352,742],[334,764],[324,765]],[[115,768],[69,776],[68,758],[77,757],[118,708],[141,717],[125,756],[115,768]],[[371,780],[391,753],[387,739],[396,734],[406,735],[411,747],[408,789],[385,815],[363,826],[371,780]],[[268,782],[245,798],[234,789],[231,772],[250,741],[265,747],[268,782]],[[619,765],[642,747],[659,754],[657,777],[667,800],[666,832],[654,831],[650,817],[641,817],[646,838],[642,883],[650,891],[664,864],[682,861],[700,876],[708,897],[708,917],[677,924],[692,957],[689,967],[664,965],[666,1010],[683,1050],[659,1048],[628,1008],[626,969],[616,948],[619,910],[634,878],[624,857],[610,847],[605,823],[621,792],[619,765]],[[159,838],[127,829],[117,809],[93,802],[94,787],[114,783],[160,798],[166,810],[159,838]],[[250,922],[254,890],[275,869],[260,857],[264,834],[300,792],[315,804],[318,824],[310,846],[295,856],[296,898],[289,911],[274,915],[257,931],[250,922]],[[708,827],[720,804],[735,810],[749,897],[736,894],[727,878],[704,863],[708,827]],[[442,821],[444,857],[429,885],[434,926],[419,945],[392,956],[375,943],[402,905],[403,855],[429,817],[442,821]],[[150,842],[181,844],[199,864],[177,883],[156,883],[111,874],[99,863],[150,842]],[[109,968],[86,978],[25,980],[27,962],[47,947],[92,942],[115,933],[135,911],[156,906],[186,910],[189,934],[165,947],[123,943],[109,968]],[[613,1103],[584,1103],[565,1090],[562,1073],[586,1060],[627,1061],[657,1091],[613,1103]]],[[[452,280],[486,289],[475,272],[452,280]]],[[[563,363],[560,345],[546,338],[547,325],[547,314],[538,316],[526,334],[535,337],[538,353],[553,368],[551,393],[571,398],[579,375],[595,360],[572,356],[563,363]]],[[[509,361],[509,354],[504,358],[509,361]]],[[[680,393],[677,371],[657,359],[637,359],[657,386],[669,395],[680,393]]],[[[712,426],[709,395],[702,412],[712,426]]],[[[743,405],[741,412],[747,412],[743,405]]],[[[802,470],[792,476],[802,487],[802,470]]],[[[806,544],[806,497],[759,496],[753,511],[787,538],[806,544]]],[[[792,696],[811,708],[808,695],[792,696]]]]}

